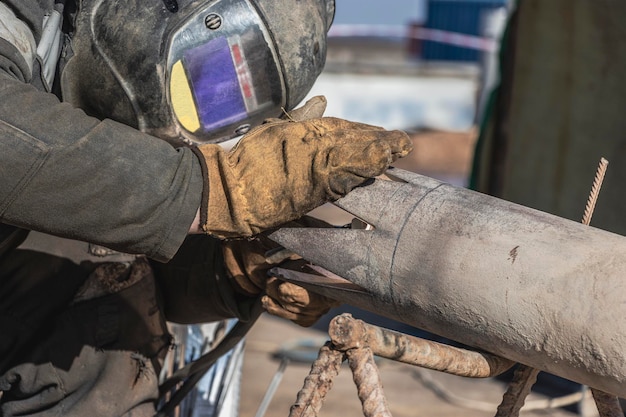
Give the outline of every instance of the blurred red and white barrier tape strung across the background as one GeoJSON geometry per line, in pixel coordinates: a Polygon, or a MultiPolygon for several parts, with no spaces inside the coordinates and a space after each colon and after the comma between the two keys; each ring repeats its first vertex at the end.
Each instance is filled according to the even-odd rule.
{"type": "Polygon", "coordinates": [[[498,49],[498,42],[495,39],[416,26],[334,25],[330,28],[328,36],[412,38],[485,52],[494,52],[498,49]]]}

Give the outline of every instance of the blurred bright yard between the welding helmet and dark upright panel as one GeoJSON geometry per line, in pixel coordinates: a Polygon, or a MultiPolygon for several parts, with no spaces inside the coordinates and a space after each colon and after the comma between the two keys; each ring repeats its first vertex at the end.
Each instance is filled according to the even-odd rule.
{"type": "Polygon", "coordinates": [[[310,96],[326,114],[409,132],[399,166],[464,184],[507,0],[338,0],[310,96]]]}

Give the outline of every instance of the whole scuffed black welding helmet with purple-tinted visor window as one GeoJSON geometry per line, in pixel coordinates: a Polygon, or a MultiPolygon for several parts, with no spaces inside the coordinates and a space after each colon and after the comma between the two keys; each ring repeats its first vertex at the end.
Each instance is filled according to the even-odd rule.
{"type": "Polygon", "coordinates": [[[309,92],[334,0],[82,0],[64,101],[175,144],[246,133],[309,92]]]}

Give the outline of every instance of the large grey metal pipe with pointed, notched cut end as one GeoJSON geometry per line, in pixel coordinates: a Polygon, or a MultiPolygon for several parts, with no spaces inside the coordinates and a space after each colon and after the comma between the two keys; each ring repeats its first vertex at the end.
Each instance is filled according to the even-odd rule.
{"type": "Polygon", "coordinates": [[[390,174],[336,203],[372,230],[271,235],[365,291],[311,290],[626,397],[626,238],[390,174]]]}

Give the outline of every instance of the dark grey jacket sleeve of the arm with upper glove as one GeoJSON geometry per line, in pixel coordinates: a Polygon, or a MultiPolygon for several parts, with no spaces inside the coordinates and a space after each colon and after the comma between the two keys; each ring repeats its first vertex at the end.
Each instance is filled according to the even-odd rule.
{"type": "Polygon", "coordinates": [[[173,257],[204,187],[193,152],[35,89],[20,58],[0,42],[0,222],[173,257]]]}

